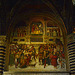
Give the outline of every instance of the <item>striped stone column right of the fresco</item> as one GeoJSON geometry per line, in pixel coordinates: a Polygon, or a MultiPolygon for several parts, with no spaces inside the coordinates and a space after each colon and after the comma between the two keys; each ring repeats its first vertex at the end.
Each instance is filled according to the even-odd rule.
{"type": "Polygon", "coordinates": [[[75,33],[68,35],[67,40],[70,72],[75,75],[75,33]]]}

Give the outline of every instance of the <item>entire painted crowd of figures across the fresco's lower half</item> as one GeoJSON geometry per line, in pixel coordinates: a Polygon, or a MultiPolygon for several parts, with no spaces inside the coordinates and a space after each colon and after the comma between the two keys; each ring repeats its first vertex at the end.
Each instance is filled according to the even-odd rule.
{"type": "Polygon", "coordinates": [[[55,68],[60,65],[61,68],[64,68],[65,57],[63,46],[56,44],[42,44],[38,50],[35,49],[34,45],[11,44],[9,61],[9,65],[13,66],[15,64],[15,68],[35,67],[37,63],[43,65],[44,68],[46,65],[53,65],[55,68]],[[32,62],[35,63],[31,64],[32,62]]]}

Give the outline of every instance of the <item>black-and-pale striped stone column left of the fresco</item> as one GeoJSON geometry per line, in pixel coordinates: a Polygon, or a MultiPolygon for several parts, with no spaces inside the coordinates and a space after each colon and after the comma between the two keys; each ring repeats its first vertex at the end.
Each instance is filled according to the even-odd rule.
{"type": "Polygon", "coordinates": [[[6,36],[0,36],[0,75],[3,74],[4,61],[5,61],[5,51],[6,51],[6,36]]]}

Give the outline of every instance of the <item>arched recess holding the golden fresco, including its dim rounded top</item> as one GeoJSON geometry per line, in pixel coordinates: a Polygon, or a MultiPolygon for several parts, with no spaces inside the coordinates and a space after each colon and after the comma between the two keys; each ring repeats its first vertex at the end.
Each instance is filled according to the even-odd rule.
{"type": "Polygon", "coordinates": [[[63,34],[64,29],[61,28],[62,26],[59,21],[54,21],[55,19],[53,17],[47,18],[47,16],[40,15],[37,17],[35,15],[25,21],[19,22],[18,20],[17,22],[13,22],[9,34],[9,66],[14,67],[14,69],[17,69],[17,67],[24,67],[24,69],[31,67],[32,69],[32,67],[35,66],[34,71],[37,71],[37,68],[40,66],[43,68],[41,70],[44,71],[51,71],[52,67],[54,67],[52,71],[58,71],[58,67],[60,66],[61,69],[64,69],[63,71],[66,71],[66,61],[64,60],[65,42],[63,40],[63,38],[65,38],[65,35],[63,34]],[[18,54],[21,52],[22,54],[20,55],[19,60],[18,54]],[[52,62],[51,59],[53,52],[56,54],[56,61],[54,61],[56,63],[52,62]],[[44,57],[45,54],[48,56],[46,56],[46,60],[44,57]],[[59,58],[60,56],[61,58],[59,58]],[[25,59],[23,60],[21,58],[25,59]],[[60,62],[65,62],[65,64],[60,63],[59,59],[63,60],[63,62],[60,62]],[[21,63],[21,60],[23,60],[23,62],[27,60],[27,62],[21,63]],[[47,67],[51,69],[48,70],[47,67]]]}

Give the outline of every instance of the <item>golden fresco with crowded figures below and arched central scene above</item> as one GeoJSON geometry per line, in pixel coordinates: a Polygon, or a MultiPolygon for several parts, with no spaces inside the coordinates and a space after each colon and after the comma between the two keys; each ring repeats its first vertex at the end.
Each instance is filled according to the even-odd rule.
{"type": "Polygon", "coordinates": [[[66,71],[63,36],[59,27],[48,27],[41,22],[32,22],[28,28],[25,26],[16,28],[13,34],[16,40],[13,41],[11,38],[9,70],[66,71]]]}

